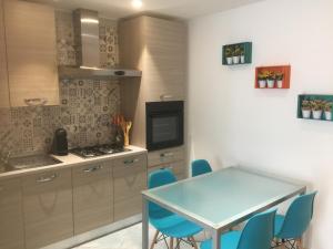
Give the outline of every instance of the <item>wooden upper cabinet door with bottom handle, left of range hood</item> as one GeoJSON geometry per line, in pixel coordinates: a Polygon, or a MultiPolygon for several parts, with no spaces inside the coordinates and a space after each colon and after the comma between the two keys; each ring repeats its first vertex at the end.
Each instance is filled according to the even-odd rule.
{"type": "Polygon", "coordinates": [[[4,27],[11,106],[58,105],[54,10],[4,0],[4,27]]]}

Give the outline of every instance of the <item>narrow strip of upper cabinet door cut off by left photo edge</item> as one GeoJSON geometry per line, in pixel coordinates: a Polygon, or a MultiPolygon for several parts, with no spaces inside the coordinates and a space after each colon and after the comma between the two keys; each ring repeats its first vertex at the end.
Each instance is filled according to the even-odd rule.
{"type": "Polygon", "coordinates": [[[0,108],[9,107],[7,56],[3,24],[3,1],[0,0],[0,108]]]}

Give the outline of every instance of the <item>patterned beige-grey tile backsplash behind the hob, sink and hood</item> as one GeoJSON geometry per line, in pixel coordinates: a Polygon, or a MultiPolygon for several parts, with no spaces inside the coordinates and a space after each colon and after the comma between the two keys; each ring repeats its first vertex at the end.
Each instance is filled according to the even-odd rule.
{"type": "MultiPolygon", "coordinates": [[[[58,64],[74,65],[72,15],[56,12],[58,64]]],[[[118,64],[117,23],[100,20],[101,66],[118,64]]],[[[117,80],[62,80],[60,106],[0,110],[0,153],[26,155],[49,152],[53,133],[63,127],[69,146],[88,146],[112,139],[111,117],[120,111],[117,80]]]]}

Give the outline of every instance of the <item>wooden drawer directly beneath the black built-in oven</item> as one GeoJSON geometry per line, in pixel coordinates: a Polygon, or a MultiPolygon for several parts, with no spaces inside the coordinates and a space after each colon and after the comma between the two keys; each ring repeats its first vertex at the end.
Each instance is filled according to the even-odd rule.
{"type": "Polygon", "coordinates": [[[150,152],[148,154],[148,166],[154,167],[157,165],[169,164],[172,162],[184,160],[184,159],[185,159],[184,147],[161,149],[157,152],[150,152]]]}

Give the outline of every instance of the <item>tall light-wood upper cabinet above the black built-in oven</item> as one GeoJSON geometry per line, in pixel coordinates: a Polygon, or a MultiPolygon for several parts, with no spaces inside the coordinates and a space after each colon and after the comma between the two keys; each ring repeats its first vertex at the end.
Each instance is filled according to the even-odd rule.
{"type": "Polygon", "coordinates": [[[120,63],[142,71],[140,94],[143,100],[184,100],[184,23],[143,15],[122,21],[119,33],[120,63]]]}

